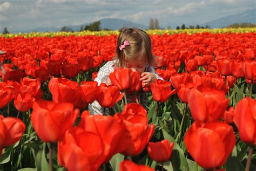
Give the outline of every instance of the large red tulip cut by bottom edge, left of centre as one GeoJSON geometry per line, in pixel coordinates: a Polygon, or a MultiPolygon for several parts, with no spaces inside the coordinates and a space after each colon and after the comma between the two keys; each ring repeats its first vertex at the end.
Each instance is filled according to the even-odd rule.
{"type": "Polygon", "coordinates": [[[103,151],[103,142],[98,134],[73,127],[58,142],[58,162],[68,170],[98,170],[97,161],[103,151]]]}

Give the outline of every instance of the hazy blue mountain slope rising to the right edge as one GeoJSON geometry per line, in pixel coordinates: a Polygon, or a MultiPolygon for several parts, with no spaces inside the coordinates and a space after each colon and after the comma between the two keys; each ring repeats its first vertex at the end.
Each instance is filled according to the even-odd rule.
{"type": "Polygon", "coordinates": [[[238,13],[231,16],[222,17],[219,19],[212,20],[207,23],[200,24],[200,26],[209,25],[213,28],[225,28],[228,25],[234,23],[256,23],[256,9],[247,10],[243,13],[238,13]]]}

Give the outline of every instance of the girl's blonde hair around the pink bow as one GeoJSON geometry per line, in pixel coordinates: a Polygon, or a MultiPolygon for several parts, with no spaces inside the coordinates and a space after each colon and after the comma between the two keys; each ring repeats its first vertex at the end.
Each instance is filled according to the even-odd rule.
{"type": "Polygon", "coordinates": [[[116,49],[119,66],[124,67],[126,60],[136,60],[138,58],[144,60],[149,65],[153,65],[154,56],[151,50],[151,39],[149,35],[145,31],[137,28],[123,28],[119,31],[116,49]],[[130,45],[120,50],[119,46],[123,45],[125,40],[128,40],[130,45]]]}

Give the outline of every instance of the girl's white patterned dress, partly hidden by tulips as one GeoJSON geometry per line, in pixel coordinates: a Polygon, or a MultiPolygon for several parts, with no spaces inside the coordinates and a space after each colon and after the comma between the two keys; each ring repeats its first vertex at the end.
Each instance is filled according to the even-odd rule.
{"type": "MultiPolygon", "coordinates": [[[[117,69],[117,60],[111,60],[108,61],[105,65],[103,65],[100,69],[99,72],[97,74],[97,77],[95,78],[95,81],[97,81],[98,85],[100,85],[100,83],[106,83],[107,78],[109,78],[109,74],[114,72],[115,69],[117,69]]],[[[152,72],[154,74],[156,74],[157,79],[162,79],[161,77],[158,76],[156,70],[154,69],[154,67],[146,65],[145,67],[145,72],[152,72]]],[[[133,102],[133,98],[132,95],[134,94],[127,94],[127,102],[128,104],[130,102],[133,102]]],[[[146,92],[140,92],[139,93],[140,97],[140,104],[142,104],[142,106],[147,110],[147,96],[146,96],[146,92]]],[[[89,104],[89,112],[91,114],[102,114],[103,113],[103,107],[99,105],[98,101],[95,100],[92,102],[92,104],[89,104]]],[[[106,114],[109,113],[109,111],[106,109],[105,111],[106,114]]]]}

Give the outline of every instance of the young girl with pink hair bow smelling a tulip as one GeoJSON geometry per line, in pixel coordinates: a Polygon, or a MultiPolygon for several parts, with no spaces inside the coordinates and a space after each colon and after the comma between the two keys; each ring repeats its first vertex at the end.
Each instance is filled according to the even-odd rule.
{"type": "MultiPolygon", "coordinates": [[[[140,73],[140,80],[150,85],[156,79],[163,79],[157,75],[153,67],[156,64],[154,58],[155,56],[153,56],[151,51],[151,40],[145,31],[136,28],[121,29],[117,38],[116,59],[108,61],[99,69],[95,81],[98,82],[98,85],[100,83],[110,85],[109,74],[118,67],[128,67],[132,71],[138,71],[140,73]]],[[[140,93],[139,98],[143,107],[146,108],[146,93],[140,93]]],[[[130,95],[127,95],[127,101],[128,103],[132,101],[130,95]]],[[[91,114],[101,114],[103,113],[103,107],[95,100],[92,104],[89,104],[89,112],[91,114]]]]}

